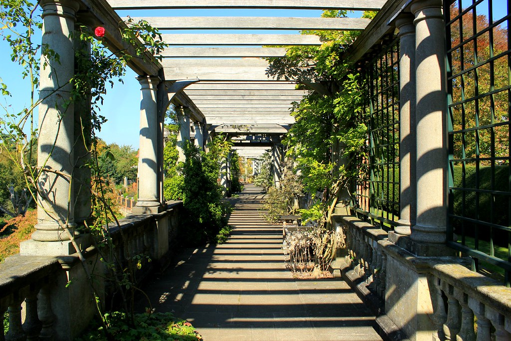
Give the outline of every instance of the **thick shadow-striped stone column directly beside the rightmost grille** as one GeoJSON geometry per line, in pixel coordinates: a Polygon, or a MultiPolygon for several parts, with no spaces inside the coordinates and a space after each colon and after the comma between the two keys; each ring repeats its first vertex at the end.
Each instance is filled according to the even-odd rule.
{"type": "Polygon", "coordinates": [[[411,239],[417,255],[446,242],[447,130],[445,26],[441,0],[416,1],[415,15],[417,217],[411,239]],[[420,244],[433,243],[432,247],[420,244]]]}

